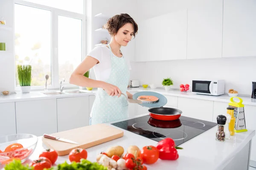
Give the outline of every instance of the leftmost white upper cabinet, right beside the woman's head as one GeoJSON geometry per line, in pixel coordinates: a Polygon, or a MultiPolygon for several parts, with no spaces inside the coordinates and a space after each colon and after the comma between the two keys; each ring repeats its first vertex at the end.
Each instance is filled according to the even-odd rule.
{"type": "Polygon", "coordinates": [[[186,59],[186,32],[186,9],[144,20],[136,38],[136,61],[186,59]]]}

